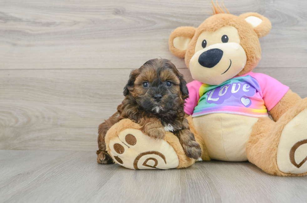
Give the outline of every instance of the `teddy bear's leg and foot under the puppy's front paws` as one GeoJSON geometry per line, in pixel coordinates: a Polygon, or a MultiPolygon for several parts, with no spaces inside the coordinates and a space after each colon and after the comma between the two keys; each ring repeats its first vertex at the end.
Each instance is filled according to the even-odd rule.
{"type": "Polygon", "coordinates": [[[174,134],[166,132],[163,140],[154,140],[140,129],[140,125],[123,119],[107,131],[107,152],[117,164],[130,169],[170,169],[195,162],[185,155],[174,134]]]}

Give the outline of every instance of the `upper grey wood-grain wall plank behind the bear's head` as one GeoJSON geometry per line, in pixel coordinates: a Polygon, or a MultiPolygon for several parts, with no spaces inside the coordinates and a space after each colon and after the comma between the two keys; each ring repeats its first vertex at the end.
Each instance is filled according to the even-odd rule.
{"type": "MultiPolygon", "coordinates": [[[[180,26],[198,27],[210,1],[0,1],[0,69],[135,68],[162,57],[180,26]],[[169,9],[171,8],[171,9],[169,9]]],[[[307,1],[225,2],[235,15],[258,12],[272,22],[260,39],[258,67],[306,67],[307,1]]]]}

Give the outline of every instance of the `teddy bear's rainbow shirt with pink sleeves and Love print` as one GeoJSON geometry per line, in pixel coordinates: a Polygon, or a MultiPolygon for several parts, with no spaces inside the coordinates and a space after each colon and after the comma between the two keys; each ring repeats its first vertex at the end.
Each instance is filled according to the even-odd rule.
{"type": "Polygon", "coordinates": [[[198,81],[187,84],[189,98],[185,112],[192,117],[210,113],[230,113],[252,117],[268,116],[289,87],[262,73],[249,72],[220,85],[198,81]]]}

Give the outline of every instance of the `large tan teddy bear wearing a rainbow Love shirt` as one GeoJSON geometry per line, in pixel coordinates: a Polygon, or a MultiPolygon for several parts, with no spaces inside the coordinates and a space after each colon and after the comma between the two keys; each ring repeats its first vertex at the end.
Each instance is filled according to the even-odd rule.
{"type": "MultiPolygon", "coordinates": [[[[185,59],[194,81],[187,84],[185,113],[202,150],[202,161],[249,161],[268,174],[307,174],[307,99],[262,73],[259,39],[271,29],[254,12],[235,16],[219,5],[199,27],[178,27],[169,49],[185,59]],[[225,11],[226,12],[225,12],[225,11]],[[271,116],[271,118],[269,117],[271,116]]],[[[179,140],[144,135],[129,119],[110,128],[105,141],[113,160],[131,169],[191,166],[179,140]]]]}

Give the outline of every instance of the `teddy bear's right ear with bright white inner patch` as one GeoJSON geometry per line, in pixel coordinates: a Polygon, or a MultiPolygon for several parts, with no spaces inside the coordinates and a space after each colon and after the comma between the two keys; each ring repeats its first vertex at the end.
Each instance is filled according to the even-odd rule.
{"type": "Polygon", "coordinates": [[[270,20],[259,13],[243,13],[239,17],[244,18],[254,28],[259,38],[266,36],[272,28],[270,20]]]}

